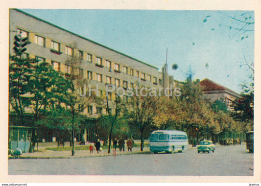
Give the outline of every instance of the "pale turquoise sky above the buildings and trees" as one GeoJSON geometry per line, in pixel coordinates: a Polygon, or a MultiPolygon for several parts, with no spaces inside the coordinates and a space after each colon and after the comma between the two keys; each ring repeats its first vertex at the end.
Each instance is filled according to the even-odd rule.
{"type": "MultiPolygon", "coordinates": [[[[209,78],[237,93],[250,82],[254,11],[21,9],[75,34],[153,65],[174,79],[209,78]],[[231,28],[229,27],[231,26],[231,28]],[[244,30],[237,29],[244,26],[244,30]],[[172,70],[173,64],[178,65],[172,70]],[[241,66],[242,65],[242,66],[241,66]]],[[[253,67],[253,66],[251,66],[253,67]]]]}

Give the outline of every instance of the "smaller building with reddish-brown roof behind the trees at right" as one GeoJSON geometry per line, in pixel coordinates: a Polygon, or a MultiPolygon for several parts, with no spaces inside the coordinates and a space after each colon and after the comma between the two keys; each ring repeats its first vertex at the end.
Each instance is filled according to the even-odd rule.
{"type": "Polygon", "coordinates": [[[241,95],[206,78],[200,81],[200,86],[204,95],[211,101],[221,100],[226,103],[228,110],[233,111],[233,106],[237,98],[241,95]]]}

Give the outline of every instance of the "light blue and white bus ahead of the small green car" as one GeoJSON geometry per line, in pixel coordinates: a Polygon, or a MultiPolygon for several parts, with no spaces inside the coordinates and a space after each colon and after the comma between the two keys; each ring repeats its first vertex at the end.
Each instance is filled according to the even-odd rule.
{"type": "Polygon", "coordinates": [[[174,151],[182,152],[188,148],[188,136],[182,131],[153,131],[149,138],[150,151],[157,154],[158,152],[174,151]]]}

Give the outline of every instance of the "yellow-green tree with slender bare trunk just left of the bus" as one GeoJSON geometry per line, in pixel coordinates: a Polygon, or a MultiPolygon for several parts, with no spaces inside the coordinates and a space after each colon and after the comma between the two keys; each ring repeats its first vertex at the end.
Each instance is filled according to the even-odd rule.
{"type": "Polygon", "coordinates": [[[143,132],[153,123],[157,116],[159,98],[158,96],[148,95],[148,90],[137,84],[136,93],[130,97],[124,109],[124,115],[131,124],[136,125],[141,133],[141,151],[143,151],[143,132]],[[145,96],[144,96],[145,95],[145,96]]]}

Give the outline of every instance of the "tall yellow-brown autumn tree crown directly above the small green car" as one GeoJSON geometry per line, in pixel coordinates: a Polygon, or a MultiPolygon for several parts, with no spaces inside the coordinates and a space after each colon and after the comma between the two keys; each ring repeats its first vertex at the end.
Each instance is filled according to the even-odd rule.
{"type": "Polygon", "coordinates": [[[218,123],[214,120],[210,105],[203,97],[199,83],[187,81],[181,89],[183,93],[178,97],[182,110],[180,129],[197,138],[199,135],[209,137],[210,133],[218,133],[218,123]]]}

